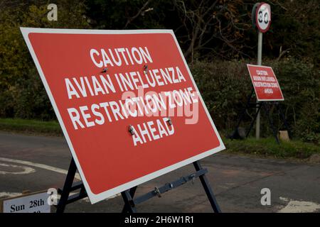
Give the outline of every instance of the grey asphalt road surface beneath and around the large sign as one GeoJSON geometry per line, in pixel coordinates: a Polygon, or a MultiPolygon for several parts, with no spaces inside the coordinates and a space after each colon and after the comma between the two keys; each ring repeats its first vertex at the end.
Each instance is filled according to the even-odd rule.
{"type": "MultiPolygon", "coordinates": [[[[0,198],[23,191],[62,187],[70,163],[63,138],[0,132],[0,198]]],[[[320,165],[275,160],[223,151],[201,161],[223,212],[319,212],[320,165]],[[271,204],[262,205],[261,190],[271,192],[271,204]]],[[[187,165],[139,185],[137,196],[194,172],[187,165]]],[[[65,212],[120,212],[121,196],[90,204],[69,204],[65,212]]],[[[53,208],[53,211],[55,209],[53,208]]],[[[137,206],[139,212],[212,212],[198,179],[137,206]]]]}

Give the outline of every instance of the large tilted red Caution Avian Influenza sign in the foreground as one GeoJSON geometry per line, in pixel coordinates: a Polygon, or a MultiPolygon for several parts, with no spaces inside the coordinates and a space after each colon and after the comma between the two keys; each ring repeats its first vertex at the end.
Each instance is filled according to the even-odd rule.
{"type": "Polygon", "coordinates": [[[173,31],[21,32],[92,203],[225,148],[173,31]]]}

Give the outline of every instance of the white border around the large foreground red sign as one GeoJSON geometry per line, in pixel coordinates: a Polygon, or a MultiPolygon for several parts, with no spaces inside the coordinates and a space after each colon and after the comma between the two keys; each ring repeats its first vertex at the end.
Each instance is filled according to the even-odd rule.
{"type": "Polygon", "coordinates": [[[122,31],[116,31],[116,30],[85,30],[85,29],[55,29],[55,28],[20,28],[21,29],[21,33],[23,34],[23,38],[26,41],[26,45],[28,46],[29,51],[31,52],[31,56],[33,58],[33,61],[36,64],[37,70],[41,76],[41,80],[46,88],[46,92],[48,93],[49,99],[51,101],[51,104],[53,105],[53,109],[55,111],[55,114],[58,118],[58,121],[60,123],[60,126],[63,130],[63,134],[65,135],[65,140],[67,140],[68,146],[70,148],[70,151],[73,155],[73,159],[75,160],[75,164],[77,165],[78,171],[80,173],[81,179],[83,184],[85,185],[85,189],[87,191],[87,195],[89,196],[89,199],[91,201],[92,204],[97,203],[98,201],[102,201],[103,199],[107,199],[110,196],[113,196],[114,194],[118,194],[120,192],[123,192],[127,189],[130,189],[132,187],[135,187],[139,184],[142,184],[144,182],[147,182],[151,179],[154,179],[156,177],[159,177],[161,175],[164,175],[168,172],[171,172],[173,170],[176,170],[180,167],[183,167],[185,165],[188,165],[192,162],[195,162],[197,160],[201,160],[204,157],[207,157],[209,155],[213,155],[214,153],[218,153],[220,150],[224,150],[225,149],[225,145],[223,144],[223,141],[220,138],[220,135],[217,131],[217,129],[215,128],[215,124],[213,123],[210,114],[208,112],[208,109],[206,108],[206,105],[203,102],[202,96],[198,90],[198,87],[196,86],[196,82],[194,82],[194,79],[192,77],[192,74],[190,72],[190,69],[186,63],[186,60],[183,57],[183,53],[181,51],[180,46],[178,45],[178,41],[176,40],[176,36],[174,35],[174,31],[172,30],[122,30],[122,31]],[[38,62],[38,59],[36,57],[36,54],[33,50],[33,47],[31,45],[31,42],[28,38],[28,34],[29,33],[65,33],[65,34],[144,34],[144,33],[169,33],[173,36],[176,45],[178,47],[178,50],[180,52],[180,55],[183,59],[184,65],[186,65],[186,69],[188,70],[188,73],[191,76],[192,82],[193,82],[193,86],[196,88],[196,91],[198,92],[198,96],[201,99],[201,104],[203,104],[204,109],[206,110],[206,114],[208,116],[208,118],[210,119],[210,122],[213,126],[213,130],[215,131],[216,135],[218,136],[218,140],[220,142],[220,145],[217,148],[214,148],[212,150],[207,150],[204,153],[201,153],[199,155],[190,157],[186,160],[183,160],[181,162],[177,162],[174,165],[171,165],[169,167],[165,167],[164,169],[158,170],[156,172],[152,172],[149,175],[145,175],[143,177],[139,177],[137,179],[132,180],[131,182],[127,182],[125,184],[119,185],[117,187],[114,187],[113,189],[107,190],[105,192],[101,192],[100,194],[94,194],[93,192],[91,192],[91,189],[89,187],[89,184],[87,183],[87,179],[85,179],[85,175],[82,172],[82,168],[80,166],[80,163],[78,161],[78,157],[75,153],[75,150],[73,149],[73,143],[71,142],[68,132],[65,128],[65,125],[63,123],[63,120],[60,116],[59,110],[55,104],[55,99],[53,98],[53,95],[50,91],[50,87],[48,86],[48,83],[46,81],[46,77],[43,74],[43,71],[41,69],[41,65],[38,62]]]}

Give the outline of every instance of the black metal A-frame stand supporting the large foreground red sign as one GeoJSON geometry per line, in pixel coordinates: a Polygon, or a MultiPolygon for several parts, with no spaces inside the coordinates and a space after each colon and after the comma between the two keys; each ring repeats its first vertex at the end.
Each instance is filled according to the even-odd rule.
{"type": "MultiPolygon", "coordinates": [[[[136,213],[137,204],[142,204],[142,202],[148,199],[151,199],[155,196],[161,197],[161,194],[163,194],[164,192],[168,192],[171,189],[174,189],[176,187],[181,186],[182,184],[185,184],[186,182],[190,182],[190,181],[193,182],[194,179],[196,179],[196,177],[200,179],[203,189],[205,190],[208,196],[208,200],[210,201],[210,205],[212,206],[213,211],[215,213],[220,213],[221,212],[220,207],[218,205],[218,202],[215,199],[213,190],[211,189],[208,179],[206,177],[206,173],[208,173],[208,170],[206,168],[201,167],[200,161],[193,162],[193,166],[195,167],[196,172],[193,172],[192,174],[187,175],[185,177],[176,179],[174,182],[166,183],[161,187],[155,187],[154,190],[152,190],[151,192],[143,194],[142,196],[138,196],[137,198],[134,198],[134,194],[137,190],[137,186],[122,192],[121,195],[124,201],[124,207],[122,209],[122,213],[136,213]]],[[[65,184],[63,185],[63,189],[58,189],[58,193],[60,194],[60,200],[58,202],[58,205],[56,206],[57,213],[63,213],[63,211],[65,211],[65,206],[87,197],[87,192],[85,191],[85,186],[83,185],[82,181],[73,182],[75,179],[76,172],[77,172],[77,166],[75,165],[75,161],[72,158],[70,162],[68,174],[65,179],[65,184]],[[80,189],[80,192],[78,192],[78,194],[70,195],[70,192],[74,192],[79,189],[80,189]]]]}

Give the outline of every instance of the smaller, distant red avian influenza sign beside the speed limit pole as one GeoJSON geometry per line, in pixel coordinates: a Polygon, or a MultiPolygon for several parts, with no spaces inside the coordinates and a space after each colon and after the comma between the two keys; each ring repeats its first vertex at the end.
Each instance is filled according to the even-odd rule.
{"type": "Polygon", "coordinates": [[[281,88],[272,67],[247,64],[257,101],[283,101],[281,88]]]}

